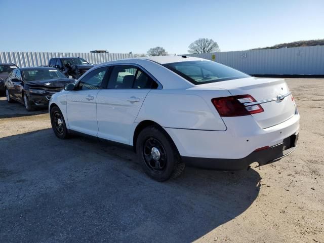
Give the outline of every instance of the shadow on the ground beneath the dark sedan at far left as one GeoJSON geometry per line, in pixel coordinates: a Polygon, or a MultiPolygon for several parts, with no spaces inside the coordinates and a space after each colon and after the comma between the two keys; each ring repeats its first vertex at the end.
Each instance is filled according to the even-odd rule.
{"type": "MultiPolygon", "coordinates": [[[[1,97],[2,95],[0,95],[1,97]]],[[[0,119],[21,116],[30,116],[48,113],[48,108],[41,108],[35,111],[27,111],[23,104],[18,102],[8,103],[6,98],[0,98],[0,119]]]]}

